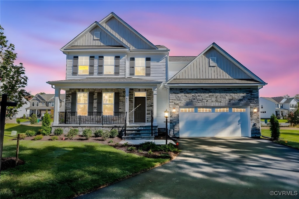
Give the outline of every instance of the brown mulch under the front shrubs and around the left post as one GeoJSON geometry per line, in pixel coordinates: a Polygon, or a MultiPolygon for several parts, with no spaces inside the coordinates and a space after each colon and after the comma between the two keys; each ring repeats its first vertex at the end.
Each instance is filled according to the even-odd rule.
{"type": "MultiPolygon", "coordinates": [[[[33,140],[35,136],[32,137],[26,137],[25,140],[33,140]]],[[[41,140],[36,140],[36,142],[38,141],[51,141],[50,140],[51,136],[50,135],[46,135],[43,136],[43,138],[41,140]]],[[[13,138],[16,140],[16,138],[13,138]]],[[[165,137],[158,137],[155,139],[165,139],[165,137]]],[[[76,141],[76,142],[96,142],[96,143],[100,143],[100,144],[106,144],[109,146],[113,146],[116,149],[119,150],[123,150],[124,152],[127,153],[133,153],[136,155],[140,155],[140,156],[144,156],[147,158],[170,158],[173,159],[175,158],[178,153],[173,153],[173,152],[158,152],[158,151],[153,151],[152,154],[148,154],[148,152],[139,152],[137,149],[139,147],[139,145],[134,145],[137,149],[136,150],[127,150],[128,146],[123,146],[122,144],[119,144],[120,141],[122,141],[121,138],[115,137],[115,138],[108,138],[106,140],[103,140],[101,137],[92,137],[89,138],[88,140],[85,139],[84,136],[82,135],[77,135],[75,138],[69,140],[68,138],[66,138],[64,135],[60,135],[58,136],[58,140],[55,140],[58,142],[69,142],[69,141],[76,141]],[[162,155],[162,156],[161,156],[162,155]]],[[[55,141],[51,141],[51,142],[55,142],[55,141]]],[[[22,142],[22,140],[20,140],[20,142],[22,142]]],[[[24,161],[20,160],[18,158],[18,163],[17,166],[25,164],[24,161]]],[[[6,158],[2,158],[2,163],[1,163],[1,170],[5,170],[5,169],[9,169],[9,168],[14,168],[16,166],[16,157],[6,157],[6,158]]]]}

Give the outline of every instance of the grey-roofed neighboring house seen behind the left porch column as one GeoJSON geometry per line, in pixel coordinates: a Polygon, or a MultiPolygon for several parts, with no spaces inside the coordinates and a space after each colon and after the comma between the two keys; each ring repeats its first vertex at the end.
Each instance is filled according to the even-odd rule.
{"type": "MultiPolygon", "coordinates": [[[[33,98],[29,100],[29,107],[27,107],[27,116],[36,114],[37,117],[42,117],[51,109],[54,110],[54,98],[55,94],[36,94],[33,98]]],[[[65,111],[65,94],[60,95],[60,111],[65,111]]],[[[23,115],[22,115],[23,116],[23,115]]]]}

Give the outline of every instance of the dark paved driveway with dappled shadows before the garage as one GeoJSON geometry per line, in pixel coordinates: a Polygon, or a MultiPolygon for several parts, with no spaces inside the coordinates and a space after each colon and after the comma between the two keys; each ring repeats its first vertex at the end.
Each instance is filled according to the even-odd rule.
{"type": "Polygon", "coordinates": [[[252,138],[185,138],[178,142],[183,151],[173,161],[78,198],[299,196],[297,149],[252,138]]]}

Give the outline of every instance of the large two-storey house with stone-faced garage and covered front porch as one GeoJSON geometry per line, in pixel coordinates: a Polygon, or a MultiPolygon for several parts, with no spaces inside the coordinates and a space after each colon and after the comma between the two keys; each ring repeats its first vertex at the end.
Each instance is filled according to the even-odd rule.
{"type": "Polygon", "coordinates": [[[154,135],[165,131],[167,109],[176,137],[260,136],[258,92],[266,83],[215,43],[197,57],[172,57],[110,13],[60,50],[66,79],[47,82],[55,88],[52,131],[126,124],[135,132],[123,138],[137,139],[152,125],[154,135]]]}

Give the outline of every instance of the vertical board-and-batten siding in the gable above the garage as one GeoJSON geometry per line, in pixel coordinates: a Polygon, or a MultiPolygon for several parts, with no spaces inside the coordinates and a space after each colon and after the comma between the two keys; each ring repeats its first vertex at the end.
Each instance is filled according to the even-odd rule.
{"type": "Polygon", "coordinates": [[[176,79],[251,79],[233,62],[214,48],[194,60],[176,79]],[[210,67],[209,58],[216,57],[217,66],[210,67]]]}

